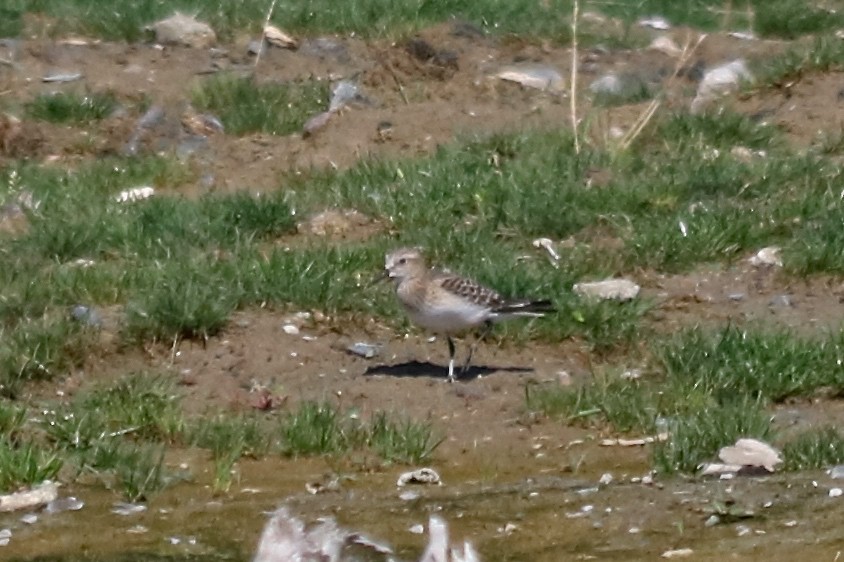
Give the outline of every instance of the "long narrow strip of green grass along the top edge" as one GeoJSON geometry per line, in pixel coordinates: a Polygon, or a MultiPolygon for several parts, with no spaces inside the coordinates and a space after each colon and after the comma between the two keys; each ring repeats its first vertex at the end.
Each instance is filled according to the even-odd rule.
{"type": "MultiPolygon", "coordinates": [[[[760,5],[763,3],[759,3],[760,5]]],[[[747,26],[746,2],[730,6],[731,22],[747,26]]],[[[156,0],[127,0],[113,10],[102,10],[95,0],[39,0],[30,4],[15,4],[13,14],[36,13],[60,21],[54,33],[81,33],[107,39],[138,41],[145,37],[144,26],[167,17],[174,10],[197,14],[208,22],[223,40],[230,40],[236,32],[257,31],[263,23],[267,4],[263,0],[177,0],[162,3],[156,0]]],[[[583,11],[598,11],[619,18],[624,32],[644,16],[661,15],[672,25],[690,25],[705,30],[719,28],[725,20],[720,13],[723,0],[641,0],[638,2],[590,2],[581,4],[583,11]]],[[[329,0],[294,1],[276,5],[272,21],[284,29],[299,33],[354,33],[364,37],[396,37],[419,28],[452,19],[465,20],[492,34],[520,34],[550,38],[558,42],[570,41],[568,15],[571,0],[551,0],[536,5],[532,2],[482,0],[465,3],[413,2],[395,0],[352,0],[342,5],[329,0]]],[[[581,44],[607,41],[606,28],[581,31],[581,44]],[[594,37],[592,36],[594,34],[594,37]]]]}

